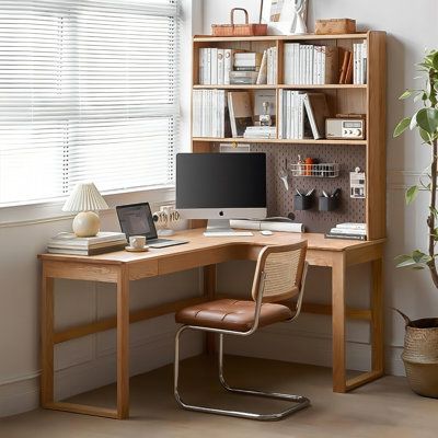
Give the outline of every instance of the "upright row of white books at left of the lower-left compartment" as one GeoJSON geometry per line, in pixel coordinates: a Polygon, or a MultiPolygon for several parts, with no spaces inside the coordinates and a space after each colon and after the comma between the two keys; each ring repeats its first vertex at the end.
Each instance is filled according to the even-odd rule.
{"type": "Polygon", "coordinates": [[[229,137],[229,120],[224,90],[193,91],[193,137],[229,137]]]}

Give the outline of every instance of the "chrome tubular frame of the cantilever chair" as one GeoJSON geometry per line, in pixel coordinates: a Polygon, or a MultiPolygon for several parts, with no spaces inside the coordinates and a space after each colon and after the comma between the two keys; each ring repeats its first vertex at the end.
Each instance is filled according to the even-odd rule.
{"type": "MultiPolygon", "coordinates": [[[[298,293],[295,314],[292,318],[290,318],[289,320],[287,320],[285,322],[292,322],[293,320],[296,320],[298,318],[298,315],[301,312],[301,304],[302,304],[302,297],[303,297],[303,292],[304,292],[304,284],[306,284],[307,273],[308,273],[308,263],[306,262],[303,272],[302,272],[301,285],[300,285],[300,290],[298,293]]],[[[257,299],[256,299],[256,306],[255,306],[255,312],[254,312],[254,323],[249,331],[234,332],[234,331],[229,331],[229,330],[218,330],[218,328],[201,327],[201,326],[195,326],[195,325],[183,325],[176,332],[175,361],[174,361],[174,395],[175,395],[176,402],[180,404],[181,407],[183,407],[185,410],[189,410],[189,411],[204,412],[204,413],[217,414],[217,415],[228,415],[228,416],[240,417],[240,418],[249,418],[249,419],[257,419],[257,420],[278,420],[278,419],[286,417],[287,415],[296,413],[297,411],[300,411],[310,405],[310,400],[302,395],[283,394],[283,393],[277,393],[277,392],[265,392],[265,391],[257,391],[257,390],[251,390],[251,389],[233,388],[233,387],[230,387],[224,379],[224,376],[223,376],[223,335],[230,334],[230,335],[237,335],[237,336],[250,336],[257,330],[260,313],[261,313],[262,302],[263,302],[265,278],[266,278],[266,275],[264,272],[262,272],[261,273],[261,283],[258,286],[258,292],[257,292],[257,299]],[[180,337],[181,337],[182,333],[188,328],[219,334],[219,381],[227,391],[239,393],[239,394],[245,394],[245,395],[256,395],[256,396],[263,396],[263,397],[268,397],[268,399],[285,400],[285,401],[293,402],[293,405],[288,407],[285,411],[278,412],[278,413],[257,414],[257,413],[244,412],[244,411],[219,410],[219,408],[215,408],[215,407],[199,406],[199,405],[193,405],[193,404],[185,403],[182,400],[180,392],[178,392],[180,337]]]]}

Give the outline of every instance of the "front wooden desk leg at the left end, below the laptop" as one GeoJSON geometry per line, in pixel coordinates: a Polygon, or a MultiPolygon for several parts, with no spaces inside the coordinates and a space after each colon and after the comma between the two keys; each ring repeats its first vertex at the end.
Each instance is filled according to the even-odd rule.
{"type": "Polygon", "coordinates": [[[120,267],[117,279],[117,418],[129,417],[129,277],[120,267]]]}

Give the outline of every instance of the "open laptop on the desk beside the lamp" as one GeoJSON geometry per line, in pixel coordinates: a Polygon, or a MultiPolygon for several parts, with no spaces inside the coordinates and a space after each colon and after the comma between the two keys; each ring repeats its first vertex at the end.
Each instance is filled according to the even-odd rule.
{"type": "Polygon", "coordinates": [[[122,232],[129,240],[131,235],[145,235],[150,247],[182,245],[186,240],[158,239],[149,203],[129,204],[116,207],[122,232]]]}

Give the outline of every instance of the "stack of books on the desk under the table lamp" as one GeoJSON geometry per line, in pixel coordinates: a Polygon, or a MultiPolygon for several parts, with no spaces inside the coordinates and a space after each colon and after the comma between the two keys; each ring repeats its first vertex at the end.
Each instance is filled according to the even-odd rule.
{"type": "Polygon", "coordinates": [[[92,238],[78,238],[74,233],[61,232],[47,243],[51,254],[96,255],[120,251],[126,246],[126,235],[122,232],[99,232],[92,238]]]}

